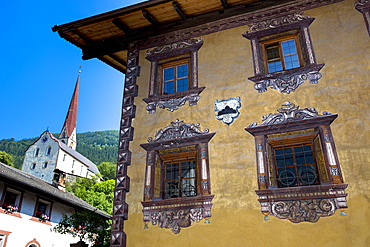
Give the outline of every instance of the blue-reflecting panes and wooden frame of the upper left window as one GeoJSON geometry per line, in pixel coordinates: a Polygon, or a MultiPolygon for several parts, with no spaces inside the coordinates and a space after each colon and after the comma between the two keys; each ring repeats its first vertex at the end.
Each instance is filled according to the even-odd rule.
{"type": "Polygon", "coordinates": [[[182,92],[189,89],[189,59],[161,65],[162,94],[182,92]]]}

